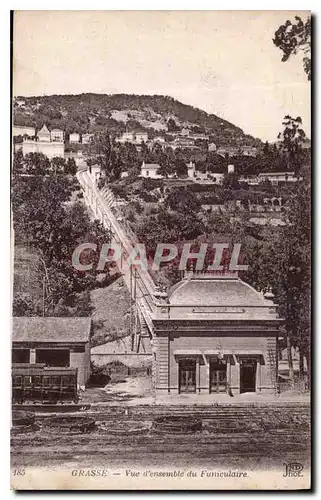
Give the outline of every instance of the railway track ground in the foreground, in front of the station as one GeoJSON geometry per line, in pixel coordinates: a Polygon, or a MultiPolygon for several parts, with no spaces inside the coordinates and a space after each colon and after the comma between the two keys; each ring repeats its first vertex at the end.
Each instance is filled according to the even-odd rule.
{"type": "Polygon", "coordinates": [[[50,428],[52,415],[37,414],[38,430],[12,435],[12,466],[282,468],[310,463],[310,409],[284,404],[215,407],[106,407],[81,413],[96,425],[88,432],[50,428]],[[160,416],[201,421],[194,433],[162,432],[160,416]]]}

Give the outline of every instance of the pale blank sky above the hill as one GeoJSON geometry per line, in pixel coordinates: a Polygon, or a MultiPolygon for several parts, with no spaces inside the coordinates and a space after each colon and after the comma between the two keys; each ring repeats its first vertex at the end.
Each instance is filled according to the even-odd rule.
{"type": "Polygon", "coordinates": [[[272,42],[286,11],[18,11],[13,94],[163,94],[275,141],[285,115],[310,137],[302,56],[272,42]]]}

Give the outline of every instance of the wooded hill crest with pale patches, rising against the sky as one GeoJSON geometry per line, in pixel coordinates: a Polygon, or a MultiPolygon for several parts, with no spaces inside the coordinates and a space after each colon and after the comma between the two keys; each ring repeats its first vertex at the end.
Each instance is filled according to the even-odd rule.
{"type": "Polygon", "coordinates": [[[206,132],[219,145],[259,145],[260,140],[244,134],[232,123],[208,114],[172,97],[161,95],[80,94],[38,97],[19,96],[14,99],[15,125],[40,128],[58,127],[66,132],[99,132],[113,134],[140,128],[149,135],[165,134],[168,120],[178,129],[206,132]]]}

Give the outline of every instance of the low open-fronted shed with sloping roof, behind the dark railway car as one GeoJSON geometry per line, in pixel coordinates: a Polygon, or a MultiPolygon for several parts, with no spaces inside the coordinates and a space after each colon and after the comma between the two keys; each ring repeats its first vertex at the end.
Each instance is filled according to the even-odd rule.
{"type": "Polygon", "coordinates": [[[44,363],[78,369],[78,386],[90,376],[91,318],[15,317],[12,363],[44,363]]]}

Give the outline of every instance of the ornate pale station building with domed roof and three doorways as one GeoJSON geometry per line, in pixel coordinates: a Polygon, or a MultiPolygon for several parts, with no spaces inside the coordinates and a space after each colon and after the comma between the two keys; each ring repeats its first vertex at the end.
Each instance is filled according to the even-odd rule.
{"type": "Polygon", "coordinates": [[[153,315],[156,393],[273,393],[282,319],[237,276],[192,275],[153,315]]]}

